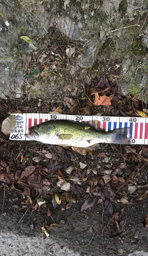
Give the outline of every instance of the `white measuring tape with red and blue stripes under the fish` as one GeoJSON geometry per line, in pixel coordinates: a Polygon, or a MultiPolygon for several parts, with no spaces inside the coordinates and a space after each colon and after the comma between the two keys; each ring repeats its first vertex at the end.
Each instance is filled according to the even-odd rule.
{"type": "Polygon", "coordinates": [[[48,120],[69,120],[86,122],[94,126],[96,130],[103,129],[106,132],[130,127],[131,144],[148,144],[148,118],[145,117],[115,117],[115,116],[79,116],[79,115],[57,115],[24,113],[12,114],[16,116],[16,127],[10,134],[10,140],[30,140],[24,136],[31,126],[48,120]]]}

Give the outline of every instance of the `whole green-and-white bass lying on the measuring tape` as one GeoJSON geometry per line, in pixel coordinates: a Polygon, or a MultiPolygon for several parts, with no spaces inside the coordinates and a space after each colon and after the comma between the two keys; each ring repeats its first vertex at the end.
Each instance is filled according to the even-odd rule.
{"type": "Polygon", "coordinates": [[[97,131],[86,123],[68,120],[50,120],[29,128],[25,136],[46,144],[85,147],[92,150],[99,143],[131,144],[130,127],[114,129],[109,132],[97,131]]]}

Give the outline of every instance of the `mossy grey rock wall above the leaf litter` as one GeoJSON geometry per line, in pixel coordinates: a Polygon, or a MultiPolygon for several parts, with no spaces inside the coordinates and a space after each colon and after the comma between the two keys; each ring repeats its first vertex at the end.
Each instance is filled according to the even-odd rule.
{"type": "Polygon", "coordinates": [[[116,79],[121,94],[144,95],[148,80],[147,8],[146,0],[1,0],[0,97],[19,98],[25,87],[30,97],[45,98],[50,90],[57,92],[57,81],[60,90],[67,90],[68,79],[62,73],[46,84],[26,81],[24,54],[39,56],[43,38],[48,36],[51,44],[42,51],[54,46],[57,33],[82,46],[81,54],[70,60],[75,81],[68,88],[71,96],[80,94],[80,84],[89,85],[97,71],[116,79]],[[22,35],[31,38],[32,44],[23,41],[22,35]],[[118,75],[113,77],[111,69],[118,75]]]}

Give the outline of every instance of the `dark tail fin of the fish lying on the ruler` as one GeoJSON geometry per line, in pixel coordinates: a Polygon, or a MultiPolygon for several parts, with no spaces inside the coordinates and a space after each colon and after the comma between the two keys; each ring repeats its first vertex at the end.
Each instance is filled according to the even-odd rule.
{"type": "Polygon", "coordinates": [[[131,144],[130,127],[119,128],[111,131],[114,134],[112,143],[115,144],[131,144]]]}

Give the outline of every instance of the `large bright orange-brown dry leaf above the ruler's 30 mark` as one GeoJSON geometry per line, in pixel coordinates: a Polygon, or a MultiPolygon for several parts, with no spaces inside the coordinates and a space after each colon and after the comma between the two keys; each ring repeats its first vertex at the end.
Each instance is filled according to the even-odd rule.
{"type": "Polygon", "coordinates": [[[110,96],[99,96],[97,92],[91,93],[91,95],[94,95],[94,105],[111,105],[111,99],[113,98],[114,94],[110,95],[110,96]]]}

